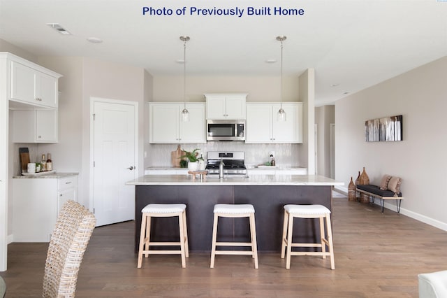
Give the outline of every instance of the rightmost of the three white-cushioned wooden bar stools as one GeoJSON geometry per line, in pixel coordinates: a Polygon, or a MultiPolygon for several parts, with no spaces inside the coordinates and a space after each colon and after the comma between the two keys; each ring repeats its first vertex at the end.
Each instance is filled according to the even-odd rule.
{"type": "Polygon", "coordinates": [[[291,268],[291,255],[321,255],[323,256],[323,259],[325,259],[326,256],[330,256],[330,269],[335,269],[330,210],[323,205],[285,205],[281,246],[282,259],[284,259],[284,254],[287,256],[286,269],[291,268]],[[294,218],[319,218],[321,241],[319,243],[293,243],[292,235],[294,218]],[[326,222],[326,232],[324,229],[324,220],[326,222]],[[328,246],[328,252],[326,252],[326,246],[328,246]],[[321,248],[321,251],[292,251],[293,247],[316,247],[321,248]],[[284,248],[286,248],[286,251],[284,248]]]}

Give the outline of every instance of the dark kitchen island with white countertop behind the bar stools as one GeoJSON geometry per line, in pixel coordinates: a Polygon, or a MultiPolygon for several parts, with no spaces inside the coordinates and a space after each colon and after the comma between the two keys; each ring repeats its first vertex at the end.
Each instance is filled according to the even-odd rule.
{"type": "MultiPolygon", "coordinates": [[[[214,204],[252,204],[255,208],[258,250],[281,250],[285,204],[321,204],[332,209],[332,187],[342,182],[323,176],[265,175],[211,178],[193,181],[187,175],[142,176],[129,181],[135,185],[135,252],[138,250],[141,210],[147,204],[186,204],[189,250],[209,251],[212,241],[214,204]]],[[[319,237],[316,221],[296,219],[294,239],[314,242],[319,237]]],[[[177,241],[178,222],[154,218],[156,241],[177,241]]],[[[248,241],[247,218],[219,219],[219,241],[248,241]]]]}

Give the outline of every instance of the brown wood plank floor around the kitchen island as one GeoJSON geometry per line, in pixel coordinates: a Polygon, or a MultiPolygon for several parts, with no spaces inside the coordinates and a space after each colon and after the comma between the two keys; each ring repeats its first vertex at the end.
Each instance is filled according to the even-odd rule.
{"type": "MultiPolygon", "coordinates": [[[[404,204],[404,203],[403,203],[404,204]]],[[[404,205],[403,205],[404,206],[404,205]]],[[[261,219],[256,219],[261,220],[261,219]]],[[[418,297],[417,275],[447,269],[447,232],[379,206],[334,198],[335,270],[320,257],[154,255],[136,268],[133,222],[98,227],[85,253],[76,297],[418,297]]],[[[280,231],[278,231],[280,233],[280,231]]],[[[41,297],[47,243],[8,246],[6,297],[41,297]]]]}

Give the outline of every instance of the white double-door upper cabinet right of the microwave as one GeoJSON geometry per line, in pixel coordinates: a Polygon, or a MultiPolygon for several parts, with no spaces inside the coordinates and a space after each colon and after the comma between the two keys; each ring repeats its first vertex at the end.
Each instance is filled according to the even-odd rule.
{"type": "Polygon", "coordinates": [[[302,143],[302,103],[282,104],[286,121],[277,120],[279,103],[248,103],[245,143],[302,143]]]}

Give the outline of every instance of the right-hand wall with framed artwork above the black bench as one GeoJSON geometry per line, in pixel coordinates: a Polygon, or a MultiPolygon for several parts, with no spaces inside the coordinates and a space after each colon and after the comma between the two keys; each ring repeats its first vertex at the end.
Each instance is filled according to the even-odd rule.
{"type": "Polygon", "coordinates": [[[335,104],[335,178],[347,185],[363,166],[374,184],[400,176],[401,213],[445,230],[446,69],[444,57],[335,104]],[[391,115],[403,115],[404,141],[365,142],[365,120],[391,115]]]}

